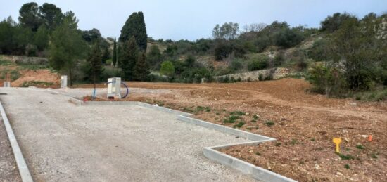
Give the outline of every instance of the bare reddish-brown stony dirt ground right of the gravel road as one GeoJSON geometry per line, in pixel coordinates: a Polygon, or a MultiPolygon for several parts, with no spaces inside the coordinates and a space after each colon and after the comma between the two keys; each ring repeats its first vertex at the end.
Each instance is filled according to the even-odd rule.
{"type": "Polygon", "coordinates": [[[387,181],[386,102],[358,102],[307,93],[310,85],[303,79],[236,84],[128,84],[168,92],[132,92],[126,100],[156,103],[194,113],[209,122],[230,127],[242,125],[242,130],[277,138],[276,142],[222,152],[289,178],[387,181]],[[373,136],[371,142],[369,135],[373,136]],[[334,152],[334,137],[343,139],[341,155],[334,152]]]}

